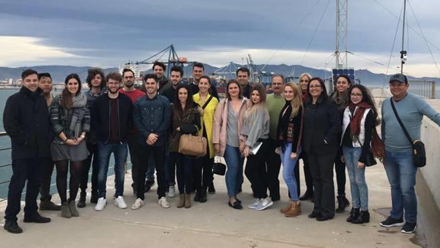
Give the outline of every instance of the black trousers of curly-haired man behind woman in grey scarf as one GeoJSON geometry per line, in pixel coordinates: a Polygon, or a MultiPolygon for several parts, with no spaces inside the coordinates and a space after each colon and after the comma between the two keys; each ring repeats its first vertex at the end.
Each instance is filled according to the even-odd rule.
{"type": "Polygon", "coordinates": [[[79,180],[79,188],[81,189],[81,194],[85,195],[85,190],[87,189],[88,183],[88,171],[91,165],[91,192],[93,194],[98,193],[98,145],[85,143],[87,150],[90,153],[87,159],[84,160],[81,170],[81,178],[79,180]]]}

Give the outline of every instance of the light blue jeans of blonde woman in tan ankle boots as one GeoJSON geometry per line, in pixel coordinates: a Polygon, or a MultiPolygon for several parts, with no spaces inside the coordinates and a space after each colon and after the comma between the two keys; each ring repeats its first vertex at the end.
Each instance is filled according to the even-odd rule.
{"type": "Polygon", "coordinates": [[[281,162],[282,162],[282,179],[284,179],[287,189],[290,192],[290,200],[299,200],[298,192],[296,190],[296,178],[293,170],[295,169],[296,161],[298,160],[301,150],[296,154],[295,159],[290,159],[292,154],[292,143],[282,143],[281,162]]]}

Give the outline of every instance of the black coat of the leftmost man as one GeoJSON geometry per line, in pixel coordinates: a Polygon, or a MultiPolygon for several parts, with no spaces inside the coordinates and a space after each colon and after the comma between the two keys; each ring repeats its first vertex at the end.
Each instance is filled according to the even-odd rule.
{"type": "Polygon", "coordinates": [[[3,126],[10,137],[12,159],[49,157],[51,130],[49,110],[42,90],[25,87],[7,98],[3,126]]]}

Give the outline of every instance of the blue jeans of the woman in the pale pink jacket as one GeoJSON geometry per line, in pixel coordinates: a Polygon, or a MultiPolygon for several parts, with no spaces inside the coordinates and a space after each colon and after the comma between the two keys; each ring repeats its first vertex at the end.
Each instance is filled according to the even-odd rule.
{"type": "Polygon", "coordinates": [[[238,147],[226,145],[224,151],[227,171],[225,175],[228,196],[235,196],[243,178],[243,158],[238,147]]]}

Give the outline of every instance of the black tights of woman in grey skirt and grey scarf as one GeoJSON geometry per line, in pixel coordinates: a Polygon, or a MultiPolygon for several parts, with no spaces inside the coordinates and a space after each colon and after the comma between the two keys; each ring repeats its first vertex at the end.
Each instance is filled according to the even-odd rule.
{"type": "Polygon", "coordinates": [[[67,170],[70,162],[69,201],[75,200],[78,193],[79,179],[81,175],[82,161],[55,161],[56,166],[56,189],[61,202],[67,201],[67,170]]]}

